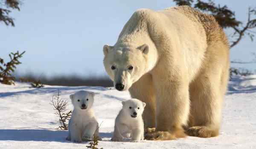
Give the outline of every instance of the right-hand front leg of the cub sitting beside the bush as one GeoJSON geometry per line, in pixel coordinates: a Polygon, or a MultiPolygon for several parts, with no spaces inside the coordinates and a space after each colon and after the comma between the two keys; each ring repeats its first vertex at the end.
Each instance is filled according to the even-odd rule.
{"type": "MultiPolygon", "coordinates": [[[[93,139],[93,135],[95,135],[96,130],[98,129],[98,123],[88,123],[83,132],[82,140],[90,141],[93,139]]],[[[96,136],[98,137],[98,136],[96,136]]]]}

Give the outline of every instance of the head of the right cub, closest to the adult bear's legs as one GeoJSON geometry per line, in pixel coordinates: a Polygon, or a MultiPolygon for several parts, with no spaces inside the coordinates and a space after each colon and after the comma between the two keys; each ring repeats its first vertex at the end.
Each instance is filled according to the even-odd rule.
{"type": "Polygon", "coordinates": [[[143,103],[140,100],[137,99],[130,99],[126,101],[122,101],[122,111],[125,112],[127,116],[131,116],[133,118],[136,118],[137,116],[141,116],[144,108],[146,106],[146,103],[143,103]]]}

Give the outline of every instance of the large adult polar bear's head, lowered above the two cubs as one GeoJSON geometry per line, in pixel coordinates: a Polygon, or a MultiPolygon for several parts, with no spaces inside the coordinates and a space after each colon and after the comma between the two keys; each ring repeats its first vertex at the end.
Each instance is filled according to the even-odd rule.
{"type": "Polygon", "coordinates": [[[104,66],[117,90],[129,89],[148,72],[148,50],[147,44],[140,47],[103,47],[104,66]]]}

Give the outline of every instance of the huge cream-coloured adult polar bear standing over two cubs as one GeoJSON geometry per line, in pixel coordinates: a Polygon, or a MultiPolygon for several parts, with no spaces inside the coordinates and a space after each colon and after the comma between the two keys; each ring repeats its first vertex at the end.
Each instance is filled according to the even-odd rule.
{"type": "Polygon", "coordinates": [[[229,46],[214,17],[189,6],[140,9],[104,65],[119,91],[146,103],[147,139],[218,135],[229,78],[229,46]]]}

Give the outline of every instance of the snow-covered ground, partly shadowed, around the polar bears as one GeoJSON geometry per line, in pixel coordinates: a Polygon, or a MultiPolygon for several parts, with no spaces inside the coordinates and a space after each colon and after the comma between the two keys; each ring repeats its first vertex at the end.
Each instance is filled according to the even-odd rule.
{"type": "Polygon", "coordinates": [[[26,83],[0,84],[0,149],[86,149],[87,142],[67,141],[67,131],[56,129],[58,117],[49,102],[58,89],[69,102],[69,95],[79,90],[97,93],[93,108],[102,123],[99,132],[103,140],[99,147],[104,149],[256,149],[256,75],[230,81],[218,137],[140,143],[110,141],[114,119],[122,107],[121,101],[130,97],[128,92],[89,86],[35,89],[26,83]]]}

